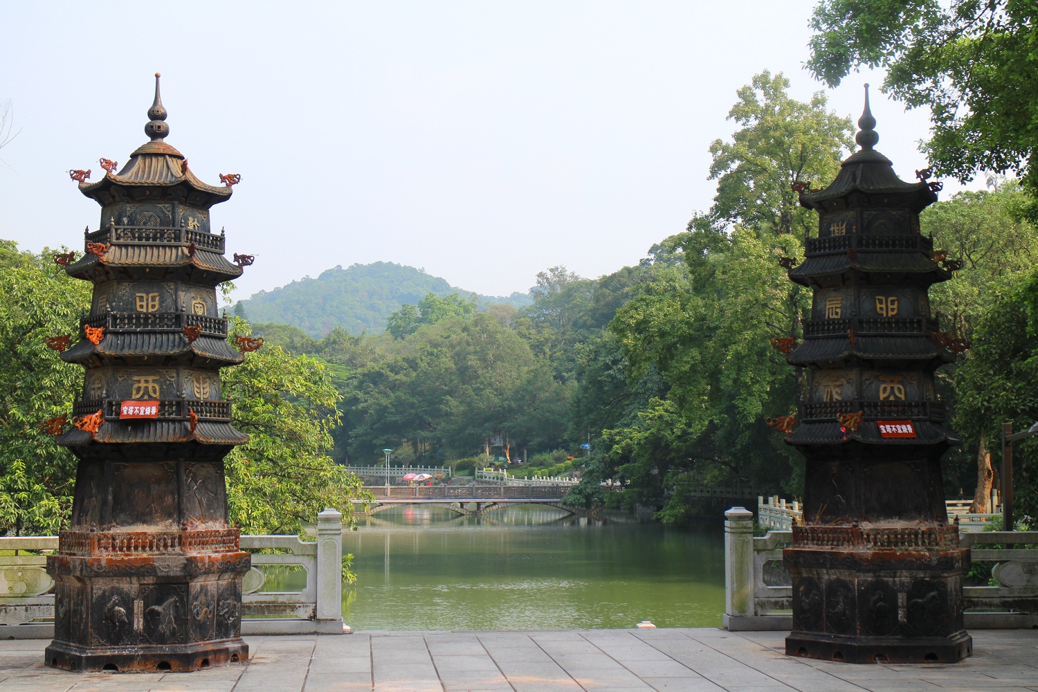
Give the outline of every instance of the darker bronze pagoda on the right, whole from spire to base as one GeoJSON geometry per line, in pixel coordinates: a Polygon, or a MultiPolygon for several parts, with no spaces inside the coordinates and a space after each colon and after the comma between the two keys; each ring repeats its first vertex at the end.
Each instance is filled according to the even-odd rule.
{"type": "Polygon", "coordinates": [[[846,662],[956,662],[969,551],[948,524],[940,458],[961,440],[944,425],[933,372],[955,358],[931,317],[929,286],[954,265],[920,232],[939,183],[895,174],[873,147],[866,85],[861,149],[824,190],[801,190],[817,239],[789,278],[814,290],[803,342],[804,525],[785,551],[793,631],[786,653],[846,662]]]}

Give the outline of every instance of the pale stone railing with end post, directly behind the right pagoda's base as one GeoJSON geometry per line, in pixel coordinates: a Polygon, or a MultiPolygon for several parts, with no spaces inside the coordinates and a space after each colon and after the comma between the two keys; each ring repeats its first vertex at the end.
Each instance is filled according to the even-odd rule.
{"type": "MultiPolygon", "coordinates": [[[[732,631],[790,630],[793,587],[783,549],[793,531],[754,536],[754,515],[742,507],[725,513],[725,628],[732,631]]],[[[963,586],[967,630],[1038,628],[1038,531],[959,531],[975,570],[990,570],[987,586],[963,586]]]]}

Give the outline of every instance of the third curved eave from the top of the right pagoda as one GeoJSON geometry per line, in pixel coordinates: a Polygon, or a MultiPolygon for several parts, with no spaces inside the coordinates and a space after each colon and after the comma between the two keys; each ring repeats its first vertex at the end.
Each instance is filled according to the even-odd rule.
{"type": "Polygon", "coordinates": [[[907,367],[932,364],[934,367],[952,363],[955,355],[948,349],[937,349],[925,336],[858,336],[851,344],[846,336],[805,339],[786,355],[790,365],[800,367],[846,367],[851,362],[884,365],[899,363],[907,367]]]}

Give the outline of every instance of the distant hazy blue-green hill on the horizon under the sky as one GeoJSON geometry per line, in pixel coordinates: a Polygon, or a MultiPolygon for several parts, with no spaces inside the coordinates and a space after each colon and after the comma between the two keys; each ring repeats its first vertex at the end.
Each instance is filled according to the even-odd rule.
{"type": "Polygon", "coordinates": [[[313,279],[306,277],[273,290],[261,290],[238,301],[236,312],[245,310],[253,323],[292,325],[310,336],[322,337],[335,327],[350,334],[379,334],[386,320],[404,303],[417,303],[428,294],[460,294],[475,299],[479,307],[508,303],[516,308],[534,302],[518,292],[508,298],[481,296],[452,286],[414,267],[377,261],[371,265],[329,269],[313,279]]]}

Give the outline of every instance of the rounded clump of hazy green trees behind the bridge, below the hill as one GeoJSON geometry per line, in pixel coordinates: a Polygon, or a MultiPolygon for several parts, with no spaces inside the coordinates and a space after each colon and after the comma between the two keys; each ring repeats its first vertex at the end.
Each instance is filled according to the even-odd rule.
{"type": "Polygon", "coordinates": [[[346,399],[351,453],[361,459],[407,441],[467,455],[488,437],[556,444],[569,392],[515,332],[487,313],[452,316],[387,344],[358,368],[346,399]]]}

